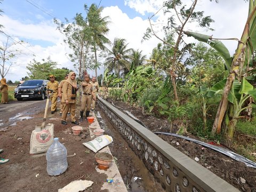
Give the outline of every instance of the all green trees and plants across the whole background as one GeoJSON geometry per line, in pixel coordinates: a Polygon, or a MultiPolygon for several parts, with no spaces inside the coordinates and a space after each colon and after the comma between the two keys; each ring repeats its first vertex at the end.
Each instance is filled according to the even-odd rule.
{"type": "MultiPolygon", "coordinates": [[[[72,23],[68,20],[66,23],[55,20],[55,23],[73,50],[69,58],[79,77],[86,69],[95,70],[97,75],[97,69],[105,66],[104,75],[98,76],[103,81],[100,91],[104,98],[124,101],[141,107],[143,113],[168,119],[170,131],[175,127],[178,134],[188,132],[224,142],[255,159],[250,151],[256,148],[256,107],[253,105],[256,101],[256,1],[249,0],[242,38],[233,39],[238,41],[234,56],[230,56],[233,54],[219,39],[184,31],[192,22],[212,30],[213,20],[204,16],[203,11],[195,11],[197,3],[196,0],[190,5],[183,5],[181,0],[164,2],[164,12],[172,14],[163,27],[163,39],[154,30],[156,25],[151,25],[154,15],[149,18],[150,27],[143,39],[155,36],[162,41],[152,50],[149,59],[142,51],[130,48],[122,37],[116,37],[114,42],[106,38],[110,18],[101,18],[102,7],[95,4],[84,5],[85,18],[77,13],[72,23]],[[187,44],[185,35],[200,42],[187,44]],[[105,62],[99,63],[100,56],[105,62]],[[249,138],[248,142],[241,142],[239,137],[249,138]]],[[[57,64],[50,58],[42,62],[33,60],[27,66],[29,73],[25,79],[45,79],[54,74],[60,81],[69,70],[58,69],[57,64]]],[[[11,99],[13,93],[9,92],[11,99]]]]}

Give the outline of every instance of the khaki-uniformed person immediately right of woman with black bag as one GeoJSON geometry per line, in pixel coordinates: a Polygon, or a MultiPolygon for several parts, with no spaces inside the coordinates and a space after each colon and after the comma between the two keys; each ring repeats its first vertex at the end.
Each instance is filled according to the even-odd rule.
{"type": "Polygon", "coordinates": [[[85,117],[89,117],[92,99],[95,100],[96,96],[92,92],[92,84],[90,83],[90,76],[85,75],[84,81],[82,83],[82,101],[81,101],[81,109],[80,109],[80,122],[83,122],[84,110],[86,108],[85,117]]]}

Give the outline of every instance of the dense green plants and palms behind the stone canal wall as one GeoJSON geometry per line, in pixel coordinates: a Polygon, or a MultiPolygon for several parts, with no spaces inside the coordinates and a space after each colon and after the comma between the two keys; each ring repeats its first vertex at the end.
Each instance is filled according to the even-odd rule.
{"type": "MultiPolygon", "coordinates": [[[[182,15],[182,21],[192,18],[199,25],[209,28],[211,18],[194,12],[196,3],[197,1],[193,1],[188,10],[186,6],[182,7],[179,14],[182,15]]],[[[181,4],[181,1],[168,1],[164,4],[164,9],[177,11],[181,4]]],[[[129,49],[124,39],[115,39],[105,62],[108,73],[104,76],[107,81],[103,84],[112,87],[109,98],[122,99],[130,105],[142,107],[143,113],[169,119],[170,131],[176,126],[178,134],[189,132],[201,138],[226,143],[255,160],[250,153],[251,150],[255,151],[256,146],[256,108],[252,106],[256,99],[255,10],[256,1],[249,1],[249,20],[245,26],[249,28],[244,30],[241,41],[238,41],[234,58],[218,39],[183,31],[182,27],[187,21],[179,26],[175,25],[174,18],[169,20],[169,24],[174,27],[164,28],[164,44],[159,43],[155,47],[149,60],[138,62],[138,58],[143,57],[135,59],[134,51],[133,54],[129,51],[117,51],[118,42],[124,47],[122,50],[129,49]],[[174,38],[174,33],[178,33],[178,39],[174,38]],[[180,39],[183,34],[193,36],[212,47],[209,48],[203,43],[184,45],[180,39]],[[181,45],[183,48],[180,48],[181,45]],[[115,71],[115,75],[110,71],[115,71]],[[123,72],[122,75],[119,75],[120,71],[123,72]],[[119,85],[121,88],[116,88],[119,85]],[[223,108],[222,102],[226,103],[226,108],[223,108]],[[243,145],[237,140],[238,137],[254,140],[243,145]]],[[[157,37],[153,26],[150,27],[145,39],[153,35],[157,37]]]]}

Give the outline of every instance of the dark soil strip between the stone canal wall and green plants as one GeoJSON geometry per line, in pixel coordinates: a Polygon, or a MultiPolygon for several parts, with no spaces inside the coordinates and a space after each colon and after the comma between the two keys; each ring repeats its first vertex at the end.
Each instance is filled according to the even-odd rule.
{"type": "MultiPolygon", "coordinates": [[[[124,102],[110,101],[110,103],[113,103],[118,109],[123,110],[124,113],[125,111],[129,111],[132,115],[140,119],[152,132],[170,132],[170,123],[166,119],[159,119],[143,114],[141,108],[129,106],[124,102]]],[[[158,134],[158,136],[191,159],[197,157],[199,164],[223,180],[226,180],[237,189],[246,192],[256,192],[256,169],[247,167],[242,162],[237,162],[226,155],[210,148],[202,147],[197,143],[170,135],[158,134]]],[[[202,141],[202,138],[197,138],[190,134],[184,136],[202,141]]],[[[203,142],[209,141],[203,140],[203,142]]],[[[236,153],[236,151],[234,152],[236,153]]]]}

